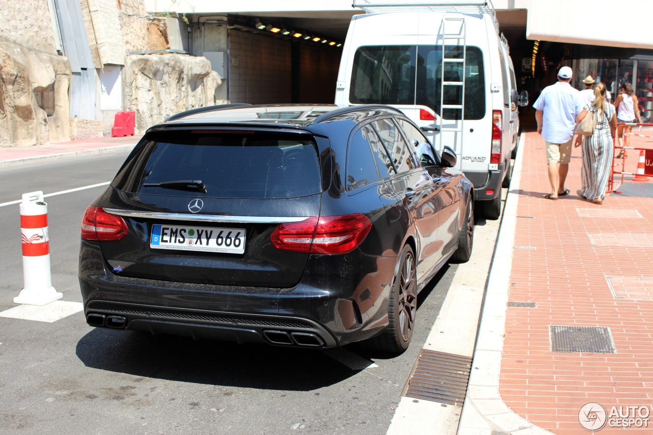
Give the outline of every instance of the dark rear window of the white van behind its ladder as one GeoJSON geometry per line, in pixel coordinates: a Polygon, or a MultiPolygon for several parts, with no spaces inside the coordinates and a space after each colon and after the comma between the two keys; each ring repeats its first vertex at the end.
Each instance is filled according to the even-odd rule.
{"type": "MultiPolygon", "coordinates": [[[[462,46],[446,46],[445,57],[462,58],[462,46]]],[[[424,105],[440,114],[444,105],[460,105],[460,86],[441,85],[464,78],[464,118],[480,120],[485,116],[485,76],[483,54],[478,47],[468,46],[465,68],[462,63],[447,62],[442,71],[442,46],[364,46],[354,56],[349,102],[356,104],[424,105]]],[[[447,120],[461,118],[459,109],[447,108],[447,120]]]]}

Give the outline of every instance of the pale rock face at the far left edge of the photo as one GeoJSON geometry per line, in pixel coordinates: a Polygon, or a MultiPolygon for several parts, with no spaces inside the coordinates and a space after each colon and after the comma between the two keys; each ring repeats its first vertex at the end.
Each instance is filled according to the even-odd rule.
{"type": "Polygon", "coordinates": [[[0,146],[68,140],[70,76],[67,57],[0,41],[0,146]]]}

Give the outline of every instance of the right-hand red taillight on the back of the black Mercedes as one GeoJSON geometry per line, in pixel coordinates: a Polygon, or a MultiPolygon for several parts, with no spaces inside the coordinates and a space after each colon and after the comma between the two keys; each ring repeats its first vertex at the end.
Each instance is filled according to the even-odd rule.
{"type": "Polygon", "coordinates": [[[270,241],[284,251],[347,253],[360,245],[371,227],[370,219],[362,214],[309,217],[301,222],[279,223],[270,241]]]}

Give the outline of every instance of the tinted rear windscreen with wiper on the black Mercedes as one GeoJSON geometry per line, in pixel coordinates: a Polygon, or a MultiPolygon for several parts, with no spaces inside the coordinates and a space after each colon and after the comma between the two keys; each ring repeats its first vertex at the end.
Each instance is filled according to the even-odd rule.
{"type": "Polygon", "coordinates": [[[242,199],[321,192],[317,146],[309,136],[184,131],[147,138],[150,141],[130,155],[118,172],[112,183],[116,189],[242,199]],[[183,181],[196,183],[184,185],[183,181]]]}

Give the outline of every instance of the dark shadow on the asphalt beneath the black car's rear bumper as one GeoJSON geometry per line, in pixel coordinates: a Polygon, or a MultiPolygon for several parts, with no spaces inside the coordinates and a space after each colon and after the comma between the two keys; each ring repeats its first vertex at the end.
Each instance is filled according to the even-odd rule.
{"type": "Polygon", "coordinates": [[[283,391],[312,391],[358,372],[317,349],[110,329],[88,332],[76,355],[88,367],[144,378],[283,391]]]}

